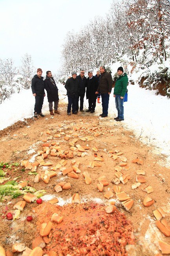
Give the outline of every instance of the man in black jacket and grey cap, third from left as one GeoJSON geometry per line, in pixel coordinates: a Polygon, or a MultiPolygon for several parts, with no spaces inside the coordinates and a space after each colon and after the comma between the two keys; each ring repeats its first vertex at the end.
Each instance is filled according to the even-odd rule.
{"type": "Polygon", "coordinates": [[[72,106],[72,113],[77,115],[76,111],[76,104],[77,99],[79,97],[79,81],[77,80],[77,73],[72,72],[72,77],[68,78],[65,84],[65,88],[67,90],[67,96],[68,96],[68,108],[67,108],[67,114],[71,115],[71,106],[72,106]]]}

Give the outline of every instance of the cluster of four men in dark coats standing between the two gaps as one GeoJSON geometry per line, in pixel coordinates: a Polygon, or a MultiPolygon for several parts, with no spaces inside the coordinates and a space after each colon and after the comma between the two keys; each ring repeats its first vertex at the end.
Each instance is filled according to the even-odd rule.
{"type": "Polygon", "coordinates": [[[97,71],[95,76],[93,76],[92,71],[89,71],[88,78],[84,76],[84,70],[80,70],[79,76],[77,76],[76,72],[72,72],[72,77],[66,81],[65,88],[68,96],[68,115],[71,115],[71,107],[74,115],[77,115],[79,109],[80,111],[84,111],[83,102],[86,93],[89,104],[86,112],[95,112],[96,100],[98,98],[97,101],[99,102],[101,95],[102,114],[100,116],[108,116],[109,96],[112,91],[112,76],[106,71],[104,66],[100,67],[100,71],[97,71]]]}

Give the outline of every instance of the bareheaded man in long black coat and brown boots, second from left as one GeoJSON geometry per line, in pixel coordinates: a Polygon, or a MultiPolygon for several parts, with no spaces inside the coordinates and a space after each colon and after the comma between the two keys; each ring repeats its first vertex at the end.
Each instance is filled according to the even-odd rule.
{"type": "Polygon", "coordinates": [[[49,102],[49,112],[50,115],[54,115],[54,113],[60,114],[58,111],[58,88],[54,81],[53,75],[51,71],[46,72],[46,79],[44,80],[45,89],[47,91],[47,98],[49,102]],[[54,102],[54,112],[53,112],[53,102],[54,102]]]}

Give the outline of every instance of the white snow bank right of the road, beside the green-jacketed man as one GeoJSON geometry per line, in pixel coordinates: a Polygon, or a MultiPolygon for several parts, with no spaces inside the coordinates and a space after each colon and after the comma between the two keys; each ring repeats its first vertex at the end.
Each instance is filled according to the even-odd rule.
{"type": "MultiPolygon", "coordinates": [[[[111,67],[112,74],[120,66],[122,66],[121,63],[113,64],[111,67]]],[[[140,88],[137,83],[140,72],[141,70],[138,73],[134,72],[131,77],[128,76],[136,82],[134,85],[128,85],[128,102],[124,103],[123,124],[126,128],[134,131],[137,139],[148,145],[153,145],[155,153],[170,156],[170,119],[168,115],[170,98],[155,95],[155,91],[140,88]]],[[[110,96],[109,109],[111,116],[117,115],[113,90],[110,96]]]]}

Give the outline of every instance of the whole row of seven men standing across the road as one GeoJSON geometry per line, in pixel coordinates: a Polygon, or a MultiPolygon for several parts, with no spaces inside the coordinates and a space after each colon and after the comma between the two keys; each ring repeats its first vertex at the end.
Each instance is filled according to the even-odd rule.
{"type": "MultiPolygon", "coordinates": [[[[118,112],[117,117],[114,119],[116,121],[124,120],[124,95],[127,90],[128,77],[127,74],[123,72],[123,68],[119,67],[117,69],[117,80],[115,83],[114,94],[116,109],[118,112]]],[[[69,77],[65,83],[65,88],[67,90],[68,96],[68,108],[67,114],[72,113],[77,115],[78,111],[84,112],[84,96],[88,99],[88,109],[86,112],[94,113],[96,107],[96,100],[100,103],[100,96],[102,98],[102,113],[101,117],[108,116],[108,106],[109,98],[112,91],[112,76],[106,71],[104,66],[100,67],[100,71],[93,76],[93,72],[88,72],[88,78],[84,76],[84,70],[80,70],[80,75],[77,76],[76,72],[72,72],[72,77],[69,77]],[[79,105],[80,102],[80,105],[79,105]]],[[[46,79],[43,80],[42,69],[37,69],[37,75],[31,80],[31,89],[33,96],[35,96],[35,108],[34,117],[44,117],[42,114],[42,105],[44,102],[44,97],[46,96],[45,90],[47,91],[47,97],[49,102],[49,112],[51,115],[54,113],[60,114],[58,111],[58,88],[53,79],[51,71],[46,72],[46,79]],[[53,112],[53,102],[54,102],[54,112],[53,112]]]]}

